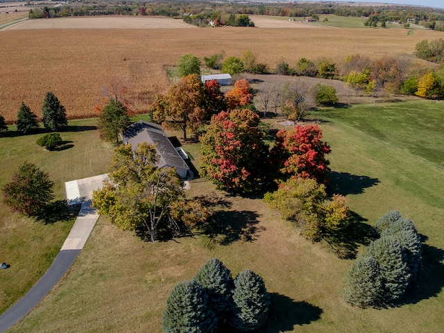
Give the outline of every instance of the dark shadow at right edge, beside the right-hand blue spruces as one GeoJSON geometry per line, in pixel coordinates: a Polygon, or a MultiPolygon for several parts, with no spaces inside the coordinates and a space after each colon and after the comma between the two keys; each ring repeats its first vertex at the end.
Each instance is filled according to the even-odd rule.
{"type": "MultiPolygon", "coordinates": [[[[423,241],[427,237],[422,237],[423,241]]],[[[416,304],[437,297],[444,287],[444,250],[422,244],[422,265],[413,286],[407,289],[402,304],[416,304]]]]}

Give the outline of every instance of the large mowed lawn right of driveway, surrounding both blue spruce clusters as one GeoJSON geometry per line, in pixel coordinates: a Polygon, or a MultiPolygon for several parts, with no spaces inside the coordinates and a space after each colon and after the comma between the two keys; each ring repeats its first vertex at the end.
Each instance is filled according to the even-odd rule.
{"type": "MultiPolygon", "coordinates": [[[[244,268],[264,278],[271,292],[270,319],[263,332],[440,332],[444,325],[444,169],[395,139],[380,110],[399,114],[395,127],[434,146],[444,115],[431,103],[362,105],[313,114],[323,119],[332,188],[347,196],[359,230],[388,210],[400,210],[424,238],[418,285],[406,304],[390,309],[354,309],[341,300],[343,274],[352,260],[340,259],[327,244],[312,244],[268,210],[260,198],[228,196],[196,179],[189,195],[212,194],[216,236],[205,234],[155,244],[122,232],[101,217],[65,278],[40,305],[8,332],[162,332],[161,318],[175,284],[191,279],[211,257],[236,275],[244,268]],[[403,105],[402,110],[395,107],[403,105]],[[427,135],[420,119],[433,115],[427,135]],[[356,120],[355,120],[356,119],[356,120]],[[364,123],[378,128],[364,128],[364,123]],[[384,137],[383,137],[384,136],[384,137]],[[424,137],[424,138],[423,138],[424,137]]],[[[436,105],[443,106],[438,102],[436,105]]],[[[280,128],[276,119],[267,119],[280,128]]],[[[87,132],[93,135],[93,132],[87,132]]],[[[174,134],[174,133],[170,133],[174,134]]],[[[184,145],[198,167],[198,144],[184,145]]],[[[439,149],[438,147],[436,149],[439,149]]],[[[69,150],[67,150],[69,151],[69,150]]]]}

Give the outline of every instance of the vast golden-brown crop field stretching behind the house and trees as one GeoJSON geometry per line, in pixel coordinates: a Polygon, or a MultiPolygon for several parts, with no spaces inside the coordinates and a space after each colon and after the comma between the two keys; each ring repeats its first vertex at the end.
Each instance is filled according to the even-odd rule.
{"type": "MultiPolygon", "coordinates": [[[[35,22],[56,26],[70,19],[35,22]]],[[[99,18],[101,22],[107,19],[112,18],[99,18]]],[[[80,27],[0,31],[0,112],[6,121],[16,120],[22,101],[40,117],[48,91],[58,96],[70,119],[92,117],[101,87],[113,76],[129,80],[136,108],[144,112],[153,96],[171,84],[164,66],[175,65],[185,53],[203,58],[221,51],[225,56],[241,56],[250,50],[258,62],[273,69],[280,60],[294,67],[300,58],[341,62],[357,53],[370,58],[412,55],[420,40],[444,37],[436,31],[408,35],[404,29],[381,28],[80,27]]]]}

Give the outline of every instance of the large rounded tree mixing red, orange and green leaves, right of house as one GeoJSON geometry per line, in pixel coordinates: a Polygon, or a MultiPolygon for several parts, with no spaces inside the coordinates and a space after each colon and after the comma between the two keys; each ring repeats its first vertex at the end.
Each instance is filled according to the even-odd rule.
{"type": "Polygon", "coordinates": [[[221,112],[212,117],[200,137],[200,169],[216,187],[250,193],[264,184],[268,147],[258,128],[259,116],[250,110],[221,112]]]}

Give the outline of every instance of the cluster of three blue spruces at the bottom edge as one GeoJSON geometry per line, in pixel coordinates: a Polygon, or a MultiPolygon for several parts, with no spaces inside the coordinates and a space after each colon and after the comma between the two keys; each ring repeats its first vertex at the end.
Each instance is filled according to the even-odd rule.
{"type": "Polygon", "coordinates": [[[250,332],[264,325],[269,305],[270,296],[259,275],[244,270],[233,280],[228,268],[213,258],[191,281],[173,288],[162,316],[162,330],[211,333],[232,327],[250,332]]]}

